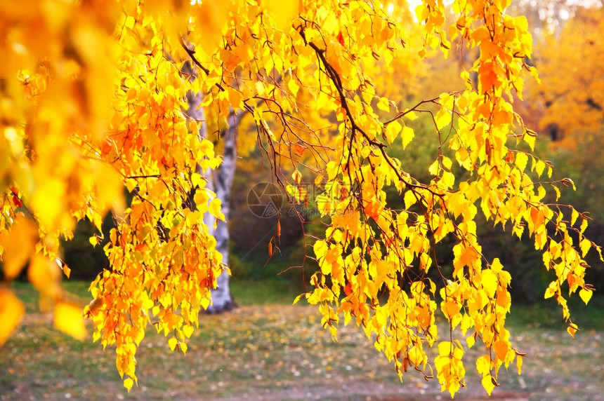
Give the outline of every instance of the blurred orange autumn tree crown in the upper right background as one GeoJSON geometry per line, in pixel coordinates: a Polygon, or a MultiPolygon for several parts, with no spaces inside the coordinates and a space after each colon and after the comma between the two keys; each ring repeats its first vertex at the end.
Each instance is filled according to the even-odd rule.
{"type": "Polygon", "coordinates": [[[530,87],[542,109],[539,128],[565,147],[604,125],[603,32],[604,8],[578,8],[559,35],[546,35],[539,46],[542,85],[530,87]]]}

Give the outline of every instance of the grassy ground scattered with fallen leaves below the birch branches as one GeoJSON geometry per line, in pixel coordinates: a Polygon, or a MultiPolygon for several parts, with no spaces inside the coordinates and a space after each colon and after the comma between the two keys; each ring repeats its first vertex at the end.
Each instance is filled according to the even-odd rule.
{"type": "MultiPolygon", "coordinates": [[[[435,380],[408,372],[401,384],[393,366],[362,330],[342,327],[331,341],[314,307],[291,306],[295,292],[278,282],[234,281],[239,308],[200,318],[186,355],[171,353],[166,339],[150,330],[138,353],[138,387],[126,393],[113,350],[56,332],[39,313],[35,292],[14,283],[29,315],[0,352],[0,399],[160,400],[395,400],[449,397],[435,380]]],[[[86,283],[65,283],[74,299],[89,301],[86,283]]],[[[301,302],[300,304],[303,304],[301,302]]],[[[604,400],[604,334],[601,299],[572,305],[582,328],[572,339],[557,308],[515,306],[509,329],[527,353],[523,374],[501,372],[493,396],[516,399],[604,400]],[[591,304],[593,303],[593,306],[591,304]]],[[[445,327],[442,327],[446,330],[445,327]]],[[[478,346],[468,357],[478,355],[478,346]]],[[[478,399],[471,358],[468,388],[460,399],[478,399]]],[[[457,398],[457,397],[456,397],[457,398]]]]}

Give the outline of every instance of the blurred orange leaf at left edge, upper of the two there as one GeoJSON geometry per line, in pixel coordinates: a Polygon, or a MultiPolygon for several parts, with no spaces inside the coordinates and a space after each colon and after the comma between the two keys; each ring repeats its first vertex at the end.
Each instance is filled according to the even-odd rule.
{"type": "Polygon", "coordinates": [[[38,240],[36,224],[23,215],[18,215],[11,229],[0,233],[0,243],[4,247],[4,276],[8,280],[19,276],[25,262],[35,252],[38,240]]]}

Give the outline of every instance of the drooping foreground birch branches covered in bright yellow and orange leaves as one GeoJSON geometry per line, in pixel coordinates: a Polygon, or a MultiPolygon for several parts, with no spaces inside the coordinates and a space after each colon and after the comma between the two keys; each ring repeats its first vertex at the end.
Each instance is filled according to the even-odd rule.
{"type": "MultiPolygon", "coordinates": [[[[527,20],[506,15],[508,4],[454,1],[447,23],[442,2],[425,0],[405,24],[402,1],[4,2],[5,281],[29,261],[29,280],[55,299],[55,324],[84,337],[55,284],[55,260],[68,273],[58,238],[69,238],[78,219],[100,229],[111,211],[111,266],[93,281],[94,301],[84,310],[93,339],[115,344],[126,388],[137,381],[136,348],[151,322],[172,349],[186,352],[199,311],[227,269],[212,236],[221,202],[209,187],[221,158],[207,138],[245,110],[275,184],[303,198],[291,187],[301,187],[308,166],[325,189],[317,205],[329,223],[309,255],[320,271],[298,299],[318,306],[334,338],[340,322],[353,320],[400,376],[409,367],[436,376],[452,395],[465,385],[466,347],[476,346],[475,366],[490,393],[500,368],[516,360],[520,370],[523,354],[505,325],[512,278],[499,259],[483,256],[477,219],[532,237],[551,270],[545,297],[558,301],[570,334],[577,326],[566,297],[579,292],[589,301],[584,257],[600,251],[584,236],[588,215],[544,203],[547,189],[559,193],[572,181],[551,182],[551,165],[518,147],[532,149],[536,134],[514,112],[513,94],[521,97],[525,74],[537,72],[525,64],[527,20]],[[409,32],[424,38],[409,57],[431,48],[479,51],[459,90],[414,104],[379,91],[376,63],[393,62],[409,32]],[[191,95],[203,95],[205,120],[191,95]],[[315,110],[329,113],[336,132],[329,144],[310,118],[315,110]],[[431,137],[416,137],[416,118],[431,122],[431,137]],[[437,149],[421,180],[391,154],[393,142],[405,148],[414,140],[437,149]],[[306,152],[312,165],[303,163],[306,152]],[[293,174],[282,174],[284,165],[293,174]],[[404,209],[388,203],[387,190],[404,209]],[[445,238],[454,243],[450,275],[436,254],[445,238]],[[449,323],[445,333],[437,313],[449,323]]],[[[7,287],[0,302],[4,341],[22,304],[7,287]]]]}

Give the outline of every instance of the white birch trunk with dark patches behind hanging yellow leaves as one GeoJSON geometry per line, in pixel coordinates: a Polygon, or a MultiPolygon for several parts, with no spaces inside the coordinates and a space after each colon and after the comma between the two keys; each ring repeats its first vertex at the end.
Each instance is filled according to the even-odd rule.
{"type": "MultiPolygon", "coordinates": [[[[202,93],[188,93],[188,109],[187,114],[191,118],[199,121],[199,136],[207,138],[207,125],[204,108],[200,107],[202,103],[202,93]]],[[[223,263],[228,265],[229,254],[229,234],[228,234],[228,219],[230,211],[230,195],[232,189],[233,178],[235,177],[235,163],[237,163],[237,126],[239,125],[240,116],[237,116],[234,111],[231,111],[230,127],[223,133],[221,141],[224,144],[223,148],[223,163],[216,170],[199,170],[199,174],[206,177],[208,180],[206,188],[216,192],[216,197],[221,200],[222,212],[225,216],[225,221],[218,220],[216,217],[206,213],[204,223],[208,226],[209,233],[216,238],[216,250],[223,255],[223,263]],[[216,229],[214,226],[216,225],[216,229]]],[[[229,287],[230,276],[227,271],[223,271],[217,279],[217,287],[212,290],[212,304],[208,308],[209,313],[221,313],[230,311],[235,308],[235,302],[232,300],[232,295],[229,287]]]]}

